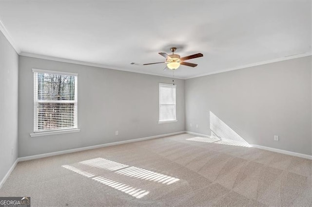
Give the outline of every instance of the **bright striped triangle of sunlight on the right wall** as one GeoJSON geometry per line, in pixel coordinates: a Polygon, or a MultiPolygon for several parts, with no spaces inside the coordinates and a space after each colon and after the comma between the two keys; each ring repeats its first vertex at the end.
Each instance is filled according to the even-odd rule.
{"type": "Polygon", "coordinates": [[[242,147],[251,147],[247,141],[241,138],[233,129],[209,111],[211,138],[218,139],[217,144],[229,144],[242,147]]]}

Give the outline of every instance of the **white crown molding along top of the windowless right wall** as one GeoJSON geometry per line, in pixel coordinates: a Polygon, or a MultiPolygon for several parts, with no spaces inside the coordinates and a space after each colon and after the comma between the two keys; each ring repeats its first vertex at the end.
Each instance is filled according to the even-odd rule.
{"type": "Polygon", "coordinates": [[[291,59],[300,58],[300,57],[307,57],[307,56],[311,56],[311,55],[312,55],[312,52],[304,52],[304,53],[289,55],[289,56],[280,57],[280,58],[276,58],[276,59],[272,59],[272,60],[265,60],[265,61],[261,61],[261,62],[251,63],[251,64],[238,66],[238,67],[234,67],[234,68],[221,69],[221,70],[217,70],[217,71],[213,71],[213,72],[207,72],[204,74],[195,75],[195,76],[191,76],[189,78],[185,78],[185,80],[191,79],[191,78],[198,78],[198,77],[202,77],[202,76],[206,76],[206,75],[213,75],[213,74],[221,73],[221,72],[228,72],[228,71],[232,71],[232,70],[236,70],[236,69],[246,69],[246,68],[250,68],[250,67],[254,67],[254,66],[261,66],[261,65],[266,65],[269,63],[281,62],[284,60],[291,60],[291,59]]]}

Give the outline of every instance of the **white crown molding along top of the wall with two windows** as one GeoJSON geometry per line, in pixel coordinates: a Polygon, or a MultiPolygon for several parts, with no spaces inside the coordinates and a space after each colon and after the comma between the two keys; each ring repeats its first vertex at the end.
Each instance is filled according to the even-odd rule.
{"type": "MultiPolygon", "coordinates": [[[[172,78],[172,75],[161,75],[161,74],[156,74],[152,72],[135,72],[129,69],[116,68],[116,67],[105,66],[105,65],[97,64],[97,63],[89,63],[89,62],[78,61],[78,60],[71,60],[71,59],[52,57],[52,56],[41,55],[41,54],[34,54],[34,53],[29,53],[29,52],[20,52],[20,56],[33,57],[33,58],[39,58],[39,59],[44,59],[44,60],[53,60],[53,61],[64,62],[64,63],[72,63],[72,64],[83,65],[83,66],[92,66],[92,67],[103,68],[103,69],[114,69],[114,70],[121,70],[121,71],[126,71],[126,72],[134,72],[134,73],[140,73],[140,74],[146,74],[146,75],[154,75],[154,76],[172,78]]],[[[183,78],[179,78],[179,77],[175,77],[175,79],[184,80],[183,78]]]]}

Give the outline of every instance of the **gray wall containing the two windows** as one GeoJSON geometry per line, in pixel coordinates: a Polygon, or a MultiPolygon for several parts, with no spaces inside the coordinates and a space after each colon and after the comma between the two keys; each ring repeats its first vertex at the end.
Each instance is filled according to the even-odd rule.
{"type": "Polygon", "coordinates": [[[184,80],[175,79],[177,122],[158,124],[158,83],[171,78],[20,56],[19,156],[184,131],[184,80]],[[33,137],[32,69],[78,73],[78,133],[33,137]],[[115,131],[119,135],[115,136],[115,131]]]}

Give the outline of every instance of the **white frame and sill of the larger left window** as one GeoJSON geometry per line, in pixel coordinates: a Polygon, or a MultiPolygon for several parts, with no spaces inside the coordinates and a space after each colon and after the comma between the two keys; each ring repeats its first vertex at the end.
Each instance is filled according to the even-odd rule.
{"type": "Polygon", "coordinates": [[[33,125],[33,132],[30,134],[31,137],[37,136],[44,136],[44,135],[54,135],[54,134],[63,134],[63,133],[71,133],[71,132],[79,132],[78,129],[78,73],[70,73],[70,72],[62,72],[62,71],[54,71],[54,70],[44,70],[44,69],[32,69],[33,77],[34,77],[34,125],[33,125]],[[51,100],[51,101],[39,101],[38,100],[38,80],[36,81],[36,73],[37,78],[39,73],[47,73],[47,74],[56,74],[56,75],[67,75],[67,76],[74,76],[75,77],[75,94],[74,100],[51,100]],[[72,103],[74,104],[74,127],[67,127],[67,128],[59,128],[59,129],[44,129],[38,130],[38,107],[39,103],[72,103]]]}

